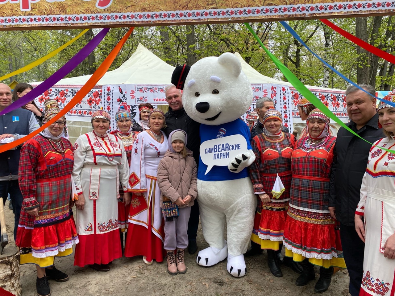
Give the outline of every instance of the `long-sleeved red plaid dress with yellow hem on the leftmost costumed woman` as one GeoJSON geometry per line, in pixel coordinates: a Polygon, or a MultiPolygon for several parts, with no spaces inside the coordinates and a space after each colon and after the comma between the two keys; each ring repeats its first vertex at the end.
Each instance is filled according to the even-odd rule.
{"type": "Polygon", "coordinates": [[[72,194],[73,152],[62,138],[55,150],[51,142],[37,135],[27,141],[19,161],[19,187],[23,195],[15,244],[21,250],[21,264],[53,265],[54,257],[73,253],[78,243],[69,202],[72,194]],[[38,208],[38,217],[26,212],[38,208]]]}

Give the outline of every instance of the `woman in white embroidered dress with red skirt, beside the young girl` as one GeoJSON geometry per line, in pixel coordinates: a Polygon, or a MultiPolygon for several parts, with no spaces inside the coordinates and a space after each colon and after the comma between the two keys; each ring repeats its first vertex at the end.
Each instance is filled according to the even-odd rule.
{"type": "Polygon", "coordinates": [[[143,256],[145,264],[162,262],[165,253],[164,220],[160,190],[156,181],[159,161],[167,151],[165,115],[154,109],[148,117],[149,129],[137,135],[132,148],[128,191],[133,193],[128,218],[126,257],[143,256]]]}

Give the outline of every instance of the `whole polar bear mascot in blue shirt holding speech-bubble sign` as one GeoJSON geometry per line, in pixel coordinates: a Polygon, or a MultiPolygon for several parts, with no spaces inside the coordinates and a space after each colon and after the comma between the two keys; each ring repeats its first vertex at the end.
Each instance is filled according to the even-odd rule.
{"type": "Polygon", "coordinates": [[[203,236],[210,246],[199,252],[196,262],[213,266],[228,258],[228,272],[242,277],[256,209],[247,169],[255,154],[248,126],[240,119],[252,103],[250,82],[230,52],[203,58],[192,67],[178,66],[172,82],[183,90],[186,113],[201,123],[198,200],[203,236]]]}

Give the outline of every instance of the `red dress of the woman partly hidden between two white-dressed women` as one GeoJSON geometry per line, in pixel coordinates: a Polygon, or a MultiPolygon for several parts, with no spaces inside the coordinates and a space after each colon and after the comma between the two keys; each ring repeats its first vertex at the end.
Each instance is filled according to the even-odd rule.
{"type": "MultiPolygon", "coordinates": [[[[132,147],[133,147],[133,142],[136,137],[136,133],[130,132],[128,134],[122,133],[119,130],[111,131],[111,135],[117,136],[119,139],[121,139],[122,143],[124,144],[124,149],[126,151],[126,157],[128,158],[128,163],[130,166],[130,159],[132,156],[132,147]]],[[[130,204],[125,206],[123,202],[120,202],[120,200],[123,198],[123,188],[122,185],[119,184],[119,197],[120,199],[118,200],[118,225],[119,229],[122,231],[125,231],[128,228],[128,215],[129,215],[129,209],[130,209],[130,204]]]]}

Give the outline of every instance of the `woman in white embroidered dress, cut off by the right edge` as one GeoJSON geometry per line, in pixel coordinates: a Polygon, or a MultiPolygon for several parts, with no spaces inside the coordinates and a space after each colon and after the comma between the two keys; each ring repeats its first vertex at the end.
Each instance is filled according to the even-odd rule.
{"type": "MultiPolygon", "coordinates": [[[[394,95],[383,99],[395,103],[394,95]]],[[[395,154],[382,149],[395,150],[395,107],[381,101],[378,123],[387,137],[371,148],[355,211],[355,230],[365,242],[360,296],[395,292],[395,154]]]]}

